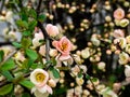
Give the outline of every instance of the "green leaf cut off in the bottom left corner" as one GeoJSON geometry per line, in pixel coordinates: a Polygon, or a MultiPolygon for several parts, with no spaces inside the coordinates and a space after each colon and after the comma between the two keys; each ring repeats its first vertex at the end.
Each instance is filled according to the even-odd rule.
{"type": "Polygon", "coordinates": [[[0,95],[1,96],[5,96],[6,94],[9,94],[11,91],[13,89],[13,84],[6,84],[2,87],[0,87],[0,95]]]}

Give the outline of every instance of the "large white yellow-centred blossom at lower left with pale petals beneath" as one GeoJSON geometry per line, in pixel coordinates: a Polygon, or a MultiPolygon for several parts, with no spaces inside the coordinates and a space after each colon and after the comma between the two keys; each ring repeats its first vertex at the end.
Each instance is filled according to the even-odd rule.
{"type": "Polygon", "coordinates": [[[47,84],[49,81],[49,73],[42,69],[35,69],[30,73],[30,81],[35,84],[32,92],[39,92],[41,94],[52,94],[52,88],[47,84]]]}

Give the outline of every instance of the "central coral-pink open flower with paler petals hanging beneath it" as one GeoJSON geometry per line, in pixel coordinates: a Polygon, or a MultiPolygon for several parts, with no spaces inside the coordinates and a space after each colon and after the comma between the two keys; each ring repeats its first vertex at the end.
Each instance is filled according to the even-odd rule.
{"type": "Polygon", "coordinates": [[[70,57],[69,52],[73,48],[73,44],[66,37],[63,37],[60,41],[53,41],[52,44],[62,53],[60,57],[61,59],[68,59],[70,57]]]}

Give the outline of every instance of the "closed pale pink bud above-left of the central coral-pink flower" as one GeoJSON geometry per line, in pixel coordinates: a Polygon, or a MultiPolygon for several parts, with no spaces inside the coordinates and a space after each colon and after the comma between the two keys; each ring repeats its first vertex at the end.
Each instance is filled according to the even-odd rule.
{"type": "Polygon", "coordinates": [[[58,28],[56,26],[51,25],[51,24],[47,25],[46,30],[47,30],[48,34],[51,37],[56,37],[60,33],[58,28]]]}

